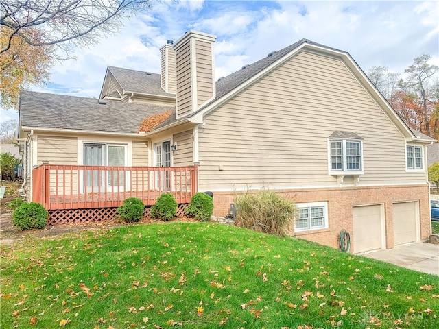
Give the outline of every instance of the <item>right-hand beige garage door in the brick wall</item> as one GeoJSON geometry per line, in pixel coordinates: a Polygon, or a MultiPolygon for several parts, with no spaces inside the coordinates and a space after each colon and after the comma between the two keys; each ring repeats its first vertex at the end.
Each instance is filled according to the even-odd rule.
{"type": "Polygon", "coordinates": [[[395,245],[416,241],[416,202],[393,204],[393,232],[395,245]]]}

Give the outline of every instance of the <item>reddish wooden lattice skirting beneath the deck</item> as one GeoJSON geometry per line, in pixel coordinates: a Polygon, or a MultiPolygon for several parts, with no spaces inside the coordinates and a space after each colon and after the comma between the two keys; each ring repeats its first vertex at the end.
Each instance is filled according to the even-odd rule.
{"type": "MultiPolygon", "coordinates": [[[[177,216],[184,215],[187,204],[179,204],[177,216]]],[[[143,217],[151,218],[151,206],[146,206],[143,217]]],[[[92,209],[63,209],[49,210],[49,225],[90,223],[111,221],[115,219],[117,208],[92,208],[92,209]]]]}

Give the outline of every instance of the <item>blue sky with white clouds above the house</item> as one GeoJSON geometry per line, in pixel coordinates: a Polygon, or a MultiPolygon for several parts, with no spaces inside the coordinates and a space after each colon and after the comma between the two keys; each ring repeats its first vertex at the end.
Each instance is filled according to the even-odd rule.
{"type": "MultiPolygon", "coordinates": [[[[56,63],[45,86],[30,89],[99,97],[106,66],[160,73],[160,51],[189,29],[214,34],[215,76],[222,77],[302,39],[348,51],[361,69],[403,73],[429,53],[439,65],[439,1],[153,1],[115,36],[56,63]]],[[[0,121],[17,119],[1,110],[0,121]]]]}

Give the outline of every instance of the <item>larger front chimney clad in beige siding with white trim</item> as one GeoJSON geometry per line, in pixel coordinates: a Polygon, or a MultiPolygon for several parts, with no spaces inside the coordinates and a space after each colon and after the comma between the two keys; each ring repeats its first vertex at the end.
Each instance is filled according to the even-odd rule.
{"type": "Polygon", "coordinates": [[[174,44],[176,51],[176,117],[189,115],[215,98],[213,45],[216,36],[186,32],[174,44]]]}

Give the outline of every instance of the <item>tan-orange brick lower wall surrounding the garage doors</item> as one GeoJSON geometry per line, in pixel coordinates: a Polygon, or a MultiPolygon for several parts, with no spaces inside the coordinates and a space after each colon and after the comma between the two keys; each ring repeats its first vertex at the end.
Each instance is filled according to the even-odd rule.
{"type": "MultiPolygon", "coordinates": [[[[276,190],[277,191],[277,190],[276,190]]],[[[418,239],[426,240],[430,235],[430,206],[429,187],[427,184],[410,186],[371,186],[352,188],[330,188],[330,189],[297,189],[278,190],[279,193],[294,199],[296,203],[302,202],[324,202],[328,203],[329,227],[322,230],[307,232],[294,232],[292,235],[298,238],[315,241],[323,245],[338,248],[340,230],[344,229],[351,234],[353,240],[353,206],[366,206],[372,204],[383,204],[385,214],[385,235],[387,249],[394,247],[394,230],[392,206],[394,202],[419,203],[420,236],[418,239]]],[[[215,206],[213,215],[224,216],[230,209],[235,195],[239,192],[214,192],[213,204],[215,206]]],[[[351,248],[352,250],[353,248],[351,248]]]]}

